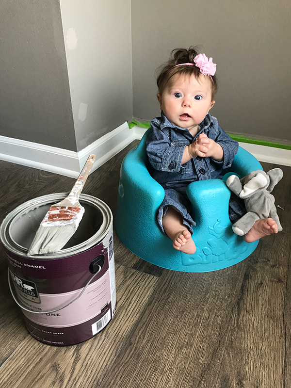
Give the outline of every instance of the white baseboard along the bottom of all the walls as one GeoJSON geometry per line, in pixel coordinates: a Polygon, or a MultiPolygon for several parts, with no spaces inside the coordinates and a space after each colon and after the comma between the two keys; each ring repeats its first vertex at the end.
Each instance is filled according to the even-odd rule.
{"type": "MultiPolygon", "coordinates": [[[[138,126],[129,129],[125,122],[80,152],[0,136],[0,160],[77,178],[90,154],[96,155],[93,172],[133,140],[140,140],[145,132],[146,129],[138,126]]],[[[289,149],[249,143],[240,143],[240,146],[251,152],[259,162],[291,166],[289,149]]]]}

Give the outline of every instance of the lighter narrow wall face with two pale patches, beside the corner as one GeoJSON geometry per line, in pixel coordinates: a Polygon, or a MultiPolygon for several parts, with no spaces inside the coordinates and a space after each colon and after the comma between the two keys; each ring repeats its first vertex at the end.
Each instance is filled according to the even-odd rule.
{"type": "Polygon", "coordinates": [[[60,0],[77,150],[132,117],[130,0],[60,0]]]}

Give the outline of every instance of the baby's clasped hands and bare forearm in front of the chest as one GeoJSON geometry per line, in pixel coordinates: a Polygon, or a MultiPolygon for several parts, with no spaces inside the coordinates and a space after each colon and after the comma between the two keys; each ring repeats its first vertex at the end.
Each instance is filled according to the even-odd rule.
{"type": "Polygon", "coordinates": [[[200,133],[194,143],[185,147],[182,164],[189,162],[190,159],[196,158],[196,156],[202,158],[211,157],[217,162],[221,162],[224,157],[224,151],[219,143],[215,143],[205,133],[200,133]]]}

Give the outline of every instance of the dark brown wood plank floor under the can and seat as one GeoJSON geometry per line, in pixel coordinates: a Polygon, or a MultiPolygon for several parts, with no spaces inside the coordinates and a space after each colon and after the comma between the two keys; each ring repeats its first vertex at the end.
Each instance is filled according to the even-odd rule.
{"type": "MultiPolygon", "coordinates": [[[[120,164],[136,144],[91,174],[84,189],[113,215],[120,164]]],[[[116,314],[81,344],[53,347],[27,332],[0,246],[0,387],[290,388],[291,167],[280,167],[274,195],[284,230],[232,267],[164,270],[133,255],[114,233],[116,314]]],[[[24,201],[68,192],[74,182],[1,161],[0,179],[0,222],[24,201]]]]}

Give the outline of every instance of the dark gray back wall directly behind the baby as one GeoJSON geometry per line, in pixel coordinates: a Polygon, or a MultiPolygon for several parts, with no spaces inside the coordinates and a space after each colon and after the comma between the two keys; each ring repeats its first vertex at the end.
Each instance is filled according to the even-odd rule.
{"type": "Polygon", "coordinates": [[[159,115],[155,69],[176,47],[217,64],[211,110],[231,133],[291,141],[289,0],[131,0],[133,115],[159,115]]]}

